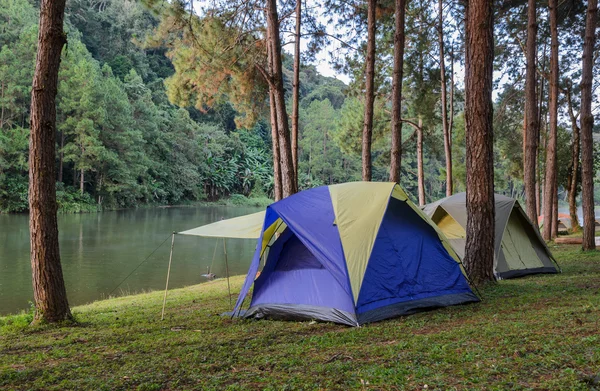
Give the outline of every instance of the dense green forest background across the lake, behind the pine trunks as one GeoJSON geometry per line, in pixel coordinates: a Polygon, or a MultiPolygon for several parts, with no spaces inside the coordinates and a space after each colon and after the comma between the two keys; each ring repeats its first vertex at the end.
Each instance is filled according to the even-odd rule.
{"type": "MultiPolygon", "coordinates": [[[[279,10],[283,99],[297,129],[298,188],[364,178],[363,127],[368,122],[364,107],[370,95],[371,179],[393,179],[391,165],[396,159],[390,145],[396,143],[401,157],[401,165],[395,166],[399,182],[415,199],[425,203],[464,191],[463,4],[406,2],[401,112],[396,115],[393,2],[375,6],[373,48],[367,39],[367,2],[326,3],[306,4],[300,13],[302,23],[297,23],[295,3],[284,2],[279,10]],[[306,41],[303,52],[296,55],[294,28],[306,41]],[[315,67],[317,53],[332,47],[329,61],[348,76],[349,84],[324,77],[315,67]],[[371,82],[365,68],[370,50],[375,64],[371,82]],[[371,94],[365,92],[369,89],[371,94]],[[399,142],[390,132],[390,123],[403,129],[399,142]]],[[[0,211],[22,212],[28,208],[30,90],[39,4],[33,0],[2,0],[2,4],[0,211]]],[[[252,66],[264,62],[269,52],[257,38],[264,21],[244,15],[249,11],[243,8],[236,2],[221,5],[217,12],[178,1],[67,1],[68,43],[62,53],[57,96],[60,209],[91,211],[234,195],[278,198],[268,83],[257,71],[260,68],[252,66]]],[[[581,164],[575,148],[585,9],[580,1],[558,6],[555,153],[561,205],[571,194],[571,203],[576,203],[580,187],[581,164]]],[[[524,156],[529,153],[524,149],[527,4],[499,2],[494,17],[494,189],[523,199],[524,156]]],[[[538,215],[552,133],[549,19],[548,6],[540,3],[534,47],[537,165],[534,179],[528,180],[535,184],[538,215]]],[[[595,194],[600,199],[600,193],[595,194]]]]}

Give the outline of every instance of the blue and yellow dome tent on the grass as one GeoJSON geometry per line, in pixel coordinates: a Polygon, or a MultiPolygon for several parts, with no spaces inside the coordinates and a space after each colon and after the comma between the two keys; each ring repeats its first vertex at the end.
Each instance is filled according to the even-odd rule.
{"type": "Polygon", "coordinates": [[[351,182],[267,207],[234,314],[359,326],[477,301],[444,235],[400,186],[351,182]]]}

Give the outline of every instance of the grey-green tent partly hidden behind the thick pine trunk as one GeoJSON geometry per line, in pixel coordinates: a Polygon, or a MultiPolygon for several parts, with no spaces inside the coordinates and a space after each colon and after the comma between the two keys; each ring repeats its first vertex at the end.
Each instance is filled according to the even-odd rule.
{"type": "MultiPolygon", "coordinates": [[[[494,273],[505,279],[536,273],[558,273],[546,243],[514,198],[495,195],[496,220],[494,273]]],[[[454,194],[425,205],[425,214],[438,225],[462,258],[465,253],[466,193],[454,194]]]]}

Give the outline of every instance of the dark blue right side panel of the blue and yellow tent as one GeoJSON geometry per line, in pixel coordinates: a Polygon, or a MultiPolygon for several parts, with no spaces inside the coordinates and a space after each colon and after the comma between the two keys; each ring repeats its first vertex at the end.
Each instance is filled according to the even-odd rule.
{"type": "Polygon", "coordinates": [[[474,301],[435,230],[406,202],[391,198],[358,297],[359,323],[474,301]]]}

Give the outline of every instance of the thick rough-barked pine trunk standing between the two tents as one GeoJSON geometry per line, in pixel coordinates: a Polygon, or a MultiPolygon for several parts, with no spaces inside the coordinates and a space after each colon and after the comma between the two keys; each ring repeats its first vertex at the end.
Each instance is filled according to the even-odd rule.
{"type": "Polygon", "coordinates": [[[467,242],[463,263],[476,285],[494,280],[492,3],[492,0],[469,1],[465,22],[467,242]]]}

